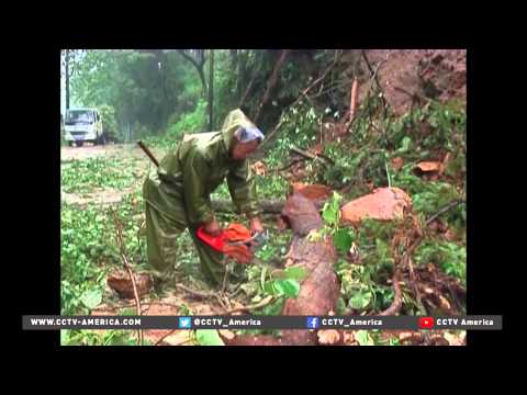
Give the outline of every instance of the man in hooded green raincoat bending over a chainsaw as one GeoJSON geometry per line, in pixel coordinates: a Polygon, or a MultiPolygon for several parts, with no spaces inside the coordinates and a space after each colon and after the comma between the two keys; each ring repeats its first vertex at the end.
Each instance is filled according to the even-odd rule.
{"type": "Polygon", "coordinates": [[[183,140],[150,171],[144,185],[148,264],[156,283],[170,276],[178,259],[176,239],[189,228],[201,270],[213,285],[225,275],[223,253],[198,239],[197,230],[216,236],[222,228],[210,194],[227,179],[234,204],[250,219],[250,230],[262,232],[256,187],[247,158],[264,134],[240,111],[232,111],[221,132],[198,133],[183,140]]]}

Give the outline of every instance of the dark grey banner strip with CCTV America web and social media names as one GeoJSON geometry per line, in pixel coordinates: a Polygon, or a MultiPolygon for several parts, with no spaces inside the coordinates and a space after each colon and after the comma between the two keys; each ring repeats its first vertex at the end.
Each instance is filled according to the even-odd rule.
{"type": "Polygon", "coordinates": [[[501,315],[421,316],[58,316],[24,315],[22,329],[461,329],[501,330],[501,315]]]}

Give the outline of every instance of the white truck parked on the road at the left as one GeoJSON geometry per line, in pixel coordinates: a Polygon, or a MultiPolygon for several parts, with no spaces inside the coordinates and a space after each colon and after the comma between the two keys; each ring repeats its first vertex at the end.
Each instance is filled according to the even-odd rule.
{"type": "Polygon", "coordinates": [[[97,109],[69,109],[66,110],[64,139],[69,146],[74,143],[81,147],[85,142],[93,145],[104,145],[105,134],[102,127],[102,119],[97,109]]]}

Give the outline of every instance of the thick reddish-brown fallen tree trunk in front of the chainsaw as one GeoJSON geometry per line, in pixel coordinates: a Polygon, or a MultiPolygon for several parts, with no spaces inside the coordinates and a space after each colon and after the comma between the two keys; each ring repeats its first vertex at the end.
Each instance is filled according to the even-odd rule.
{"type": "MultiPolygon", "coordinates": [[[[282,217],[293,229],[293,239],[284,267],[300,267],[307,273],[300,284],[295,298],[288,298],[282,315],[328,315],[336,309],[340,284],[333,269],[337,258],[330,238],[311,238],[310,233],[323,227],[315,204],[293,194],[285,202],[282,217]]],[[[302,329],[282,330],[280,339],[272,336],[239,336],[225,340],[229,346],[314,346],[318,343],[315,331],[302,329]]]]}

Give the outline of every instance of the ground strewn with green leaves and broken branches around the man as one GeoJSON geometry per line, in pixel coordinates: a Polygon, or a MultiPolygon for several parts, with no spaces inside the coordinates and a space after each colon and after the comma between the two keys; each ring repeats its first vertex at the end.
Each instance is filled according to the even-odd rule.
{"type": "MultiPolygon", "coordinates": [[[[260,199],[283,201],[293,182],[323,184],[332,191],[323,207],[323,218],[324,232],[333,236],[339,252],[335,272],[341,291],[334,313],[368,315],[389,308],[395,297],[392,281],[397,264],[402,297],[399,314],[466,313],[464,108],[456,102],[430,101],[402,116],[383,116],[381,101],[372,97],[360,106],[349,128],[343,132],[340,126],[340,115],[330,109],[300,102],[285,113],[266,155],[254,161],[260,199]],[[299,159],[292,153],[294,147],[316,155],[316,159],[299,159]],[[435,165],[426,167],[423,162],[435,165]],[[366,219],[355,226],[340,224],[343,203],[384,187],[400,188],[411,196],[407,217],[390,222],[366,219]],[[441,212],[445,207],[448,208],[441,212]],[[418,236],[411,232],[415,229],[419,229],[418,236]],[[404,249],[417,238],[418,242],[405,255],[404,249]],[[411,260],[410,264],[401,263],[404,257],[411,260]]],[[[158,138],[147,143],[160,158],[177,142],[158,138]]],[[[91,147],[63,148],[61,314],[135,315],[133,300],[119,297],[106,281],[123,270],[113,213],[122,224],[126,256],[134,271],[147,272],[141,189],[152,165],[133,146],[97,148],[96,154],[86,156],[80,153],[89,153],[91,147]]],[[[212,198],[228,199],[226,185],[212,198]]],[[[220,219],[225,225],[243,222],[237,215],[225,213],[220,219]]],[[[258,251],[258,258],[280,264],[287,259],[291,232],[283,229],[277,215],[265,215],[264,219],[271,237],[258,251]]],[[[203,282],[189,234],[183,233],[177,242],[180,256],[175,262],[173,282],[144,296],[143,314],[277,315],[284,300],[299,293],[300,272],[231,263],[228,282],[233,286],[218,296],[203,282]],[[201,294],[184,291],[178,284],[201,294]]],[[[245,330],[222,336],[243,332],[266,334],[245,330]]],[[[280,336],[278,330],[267,334],[280,336]]],[[[137,345],[137,334],[63,330],[61,340],[63,345],[137,345]]],[[[214,330],[145,330],[143,343],[223,341],[214,330]]],[[[464,332],[358,330],[347,334],[346,343],[463,345],[464,332]]]]}

